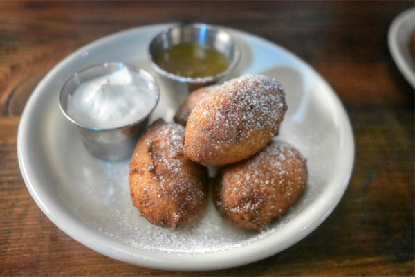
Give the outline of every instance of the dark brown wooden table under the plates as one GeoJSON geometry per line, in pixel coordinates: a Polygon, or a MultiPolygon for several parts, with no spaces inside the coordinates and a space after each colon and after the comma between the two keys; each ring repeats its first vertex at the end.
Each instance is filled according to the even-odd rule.
{"type": "Polygon", "coordinates": [[[0,1],[0,275],[183,276],[84,247],[40,211],[21,177],[19,116],[66,55],[118,30],[203,21],[290,49],[331,84],[349,113],[356,161],[329,218],[293,247],[250,265],[189,276],[414,276],[414,89],[387,30],[405,2],[0,1]]]}

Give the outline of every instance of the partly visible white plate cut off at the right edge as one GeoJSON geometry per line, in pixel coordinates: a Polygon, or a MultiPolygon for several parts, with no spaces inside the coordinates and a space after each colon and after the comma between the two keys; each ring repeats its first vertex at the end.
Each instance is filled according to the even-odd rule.
{"type": "Polygon", "coordinates": [[[409,40],[414,30],[415,8],[412,8],[405,10],[394,19],[389,28],[387,42],[396,66],[409,84],[415,88],[414,55],[409,47],[409,40]]]}

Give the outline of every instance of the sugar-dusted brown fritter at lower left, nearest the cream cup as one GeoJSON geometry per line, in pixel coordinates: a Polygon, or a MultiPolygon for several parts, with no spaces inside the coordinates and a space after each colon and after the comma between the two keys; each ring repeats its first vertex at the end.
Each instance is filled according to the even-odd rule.
{"type": "Polygon", "coordinates": [[[181,125],[157,120],[131,158],[133,205],[158,226],[185,226],[201,211],[208,194],[208,170],[184,156],[184,134],[181,125]]]}

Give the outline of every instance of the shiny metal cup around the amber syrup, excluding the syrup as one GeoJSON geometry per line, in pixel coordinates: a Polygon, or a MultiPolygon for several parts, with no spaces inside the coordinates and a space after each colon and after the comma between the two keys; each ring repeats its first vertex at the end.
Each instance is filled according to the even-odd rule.
{"type": "Polygon", "coordinates": [[[199,87],[223,81],[235,69],[241,57],[239,46],[229,33],[216,26],[201,23],[183,24],[159,33],[149,45],[149,54],[154,70],[163,76],[165,83],[169,87],[177,92],[190,92],[199,87]],[[206,45],[215,48],[230,61],[228,69],[214,76],[190,78],[169,73],[156,64],[156,58],[161,53],[172,46],[182,43],[206,45]]]}

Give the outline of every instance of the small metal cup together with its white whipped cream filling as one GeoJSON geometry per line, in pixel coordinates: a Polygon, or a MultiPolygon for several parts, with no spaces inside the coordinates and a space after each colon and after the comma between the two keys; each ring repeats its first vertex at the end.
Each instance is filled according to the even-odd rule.
{"type": "Polygon", "coordinates": [[[131,157],[159,98],[147,71],[108,62],[75,73],[62,87],[59,104],[93,156],[118,161],[131,157]]]}

